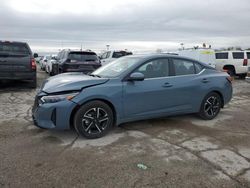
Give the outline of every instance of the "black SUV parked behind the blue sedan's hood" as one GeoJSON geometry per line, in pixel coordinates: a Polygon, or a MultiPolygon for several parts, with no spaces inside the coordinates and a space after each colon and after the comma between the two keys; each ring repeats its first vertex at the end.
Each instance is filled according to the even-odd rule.
{"type": "Polygon", "coordinates": [[[53,73],[83,72],[91,73],[101,66],[95,52],[62,50],[57,56],[57,68],[53,66],[53,73]],[[55,70],[57,69],[57,70],[55,70]]]}

